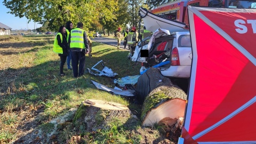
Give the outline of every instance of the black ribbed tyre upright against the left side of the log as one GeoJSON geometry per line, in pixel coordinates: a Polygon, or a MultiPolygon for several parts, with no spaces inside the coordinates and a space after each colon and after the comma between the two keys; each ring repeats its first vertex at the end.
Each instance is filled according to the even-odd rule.
{"type": "Polygon", "coordinates": [[[150,92],[150,79],[147,73],[142,74],[138,78],[137,87],[136,87],[136,97],[139,103],[143,103],[145,98],[150,92]]]}

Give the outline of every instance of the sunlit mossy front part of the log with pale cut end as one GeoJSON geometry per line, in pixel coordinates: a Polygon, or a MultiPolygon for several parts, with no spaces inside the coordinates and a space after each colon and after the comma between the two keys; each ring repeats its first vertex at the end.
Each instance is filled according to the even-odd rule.
{"type": "Polygon", "coordinates": [[[149,93],[142,105],[141,122],[152,126],[164,122],[171,126],[185,113],[187,94],[178,86],[159,86],[149,93]]]}

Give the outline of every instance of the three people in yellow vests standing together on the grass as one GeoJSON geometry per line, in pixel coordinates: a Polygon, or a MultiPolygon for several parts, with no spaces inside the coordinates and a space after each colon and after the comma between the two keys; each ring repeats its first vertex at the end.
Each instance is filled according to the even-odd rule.
{"type": "Polygon", "coordinates": [[[83,30],[83,23],[78,22],[74,29],[71,21],[68,21],[66,26],[60,26],[54,39],[53,52],[58,53],[60,57],[60,76],[65,76],[63,67],[66,60],[67,67],[70,70],[73,69],[75,78],[84,75],[85,54],[89,54],[89,58],[91,58],[92,42],[83,30]]]}

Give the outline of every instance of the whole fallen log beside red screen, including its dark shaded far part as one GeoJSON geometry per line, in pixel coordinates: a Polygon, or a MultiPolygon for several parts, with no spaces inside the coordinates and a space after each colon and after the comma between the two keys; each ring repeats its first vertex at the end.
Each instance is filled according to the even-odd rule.
{"type": "Polygon", "coordinates": [[[148,69],[145,75],[150,91],[141,109],[142,125],[152,126],[160,121],[169,126],[175,124],[184,116],[187,94],[156,68],[148,69]]]}

